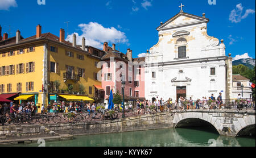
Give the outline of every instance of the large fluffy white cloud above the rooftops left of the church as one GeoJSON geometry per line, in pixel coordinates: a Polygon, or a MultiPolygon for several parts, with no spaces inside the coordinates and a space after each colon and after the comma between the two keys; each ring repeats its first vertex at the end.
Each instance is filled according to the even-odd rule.
{"type": "MultiPolygon", "coordinates": [[[[77,32],[77,44],[82,43],[82,37],[85,37],[86,45],[102,49],[105,41],[110,43],[125,43],[128,44],[129,40],[126,38],[125,33],[118,31],[116,28],[105,28],[101,24],[96,22],[90,22],[88,24],[79,24],[82,34],[79,35],[77,32]]],[[[69,35],[69,40],[72,41],[73,34],[69,35]]],[[[67,39],[66,39],[67,40],[67,39]]]]}

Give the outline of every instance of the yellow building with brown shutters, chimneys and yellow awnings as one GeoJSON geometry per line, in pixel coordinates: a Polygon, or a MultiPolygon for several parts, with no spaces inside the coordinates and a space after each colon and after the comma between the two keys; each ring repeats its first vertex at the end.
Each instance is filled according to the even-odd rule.
{"type": "Polygon", "coordinates": [[[38,25],[36,35],[30,38],[23,39],[19,31],[10,39],[7,34],[3,35],[0,94],[19,93],[15,100],[34,101],[39,107],[48,105],[51,100],[79,100],[82,96],[96,102],[104,99],[96,75],[100,71],[96,65],[101,57],[85,51],[85,39],[80,47],[75,35],[73,43],[65,41],[63,29],[60,29],[60,37],[41,32],[42,27],[38,25]]]}

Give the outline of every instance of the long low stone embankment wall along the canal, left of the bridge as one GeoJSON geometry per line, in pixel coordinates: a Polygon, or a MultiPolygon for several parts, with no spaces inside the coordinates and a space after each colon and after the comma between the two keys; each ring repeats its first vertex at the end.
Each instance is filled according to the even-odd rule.
{"type": "Polygon", "coordinates": [[[59,124],[36,124],[19,126],[0,126],[0,141],[8,139],[42,138],[69,135],[92,135],[114,132],[154,130],[174,127],[170,113],[148,114],[137,117],[100,122],[79,122],[59,124]]]}

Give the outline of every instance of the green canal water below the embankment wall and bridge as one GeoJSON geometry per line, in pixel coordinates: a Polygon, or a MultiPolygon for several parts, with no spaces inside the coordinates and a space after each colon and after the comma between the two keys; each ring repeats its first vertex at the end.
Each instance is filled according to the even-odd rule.
{"type": "MultiPolygon", "coordinates": [[[[18,144],[37,147],[39,144],[18,144]]],[[[168,128],[163,130],[76,136],[73,140],[46,142],[46,147],[255,147],[254,137],[220,136],[209,129],[168,128]],[[212,141],[211,141],[212,140],[212,141]],[[211,143],[213,142],[213,143],[211,143]]]]}

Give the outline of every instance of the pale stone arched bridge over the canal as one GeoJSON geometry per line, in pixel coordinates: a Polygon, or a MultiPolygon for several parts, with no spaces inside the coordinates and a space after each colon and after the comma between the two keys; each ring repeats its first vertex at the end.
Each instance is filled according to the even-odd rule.
{"type": "Polygon", "coordinates": [[[254,110],[187,110],[176,111],[174,127],[213,126],[225,136],[255,135],[254,110]]]}

